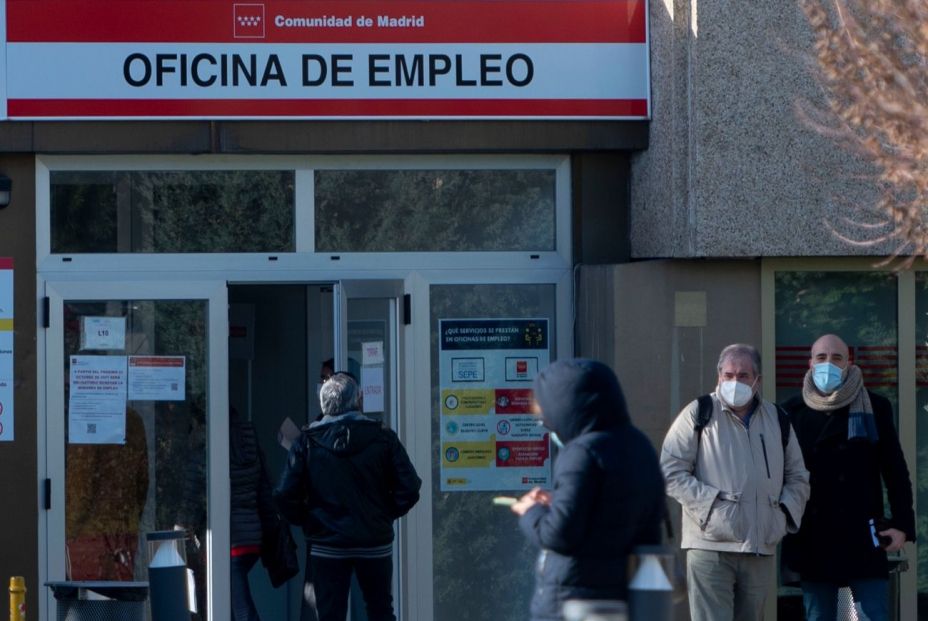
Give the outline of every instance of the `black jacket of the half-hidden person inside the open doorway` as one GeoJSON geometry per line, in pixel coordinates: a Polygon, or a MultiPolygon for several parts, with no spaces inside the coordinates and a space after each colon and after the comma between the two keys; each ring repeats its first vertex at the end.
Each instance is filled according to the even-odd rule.
{"type": "Polygon", "coordinates": [[[229,418],[229,488],[232,547],[260,545],[261,533],[276,524],[277,514],[254,425],[235,413],[229,418]]]}

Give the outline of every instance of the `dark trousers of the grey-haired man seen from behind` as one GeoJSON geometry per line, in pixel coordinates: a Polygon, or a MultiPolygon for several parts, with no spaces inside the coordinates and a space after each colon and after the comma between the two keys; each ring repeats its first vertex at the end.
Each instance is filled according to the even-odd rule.
{"type": "Polygon", "coordinates": [[[368,621],[396,621],[391,557],[310,559],[319,621],[345,621],[352,573],[361,587],[368,621]]]}

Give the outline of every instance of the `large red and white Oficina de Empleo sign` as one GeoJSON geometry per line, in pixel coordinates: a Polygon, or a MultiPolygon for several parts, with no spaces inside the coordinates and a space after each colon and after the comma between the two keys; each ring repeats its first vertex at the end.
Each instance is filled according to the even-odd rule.
{"type": "Polygon", "coordinates": [[[646,0],[5,1],[14,120],[650,114],[646,0]]]}

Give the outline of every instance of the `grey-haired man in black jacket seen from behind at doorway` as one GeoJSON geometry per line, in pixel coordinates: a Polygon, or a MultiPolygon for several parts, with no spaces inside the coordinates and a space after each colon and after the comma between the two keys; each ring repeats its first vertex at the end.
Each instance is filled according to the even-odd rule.
{"type": "MultiPolygon", "coordinates": [[[[319,391],[322,417],[293,443],[274,500],[311,546],[319,621],[345,621],[352,575],[370,621],[395,621],[393,522],[419,500],[422,481],[396,433],[360,412],[361,391],[335,373],[319,391]]],[[[309,618],[312,618],[311,616],[309,618]]]]}

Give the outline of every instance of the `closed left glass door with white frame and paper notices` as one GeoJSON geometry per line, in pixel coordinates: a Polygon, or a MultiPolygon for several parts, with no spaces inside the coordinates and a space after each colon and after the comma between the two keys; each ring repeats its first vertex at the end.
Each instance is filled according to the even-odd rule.
{"type": "Polygon", "coordinates": [[[46,294],[44,578],[146,581],[146,534],[183,528],[194,618],[228,618],[225,283],[46,294]]]}

